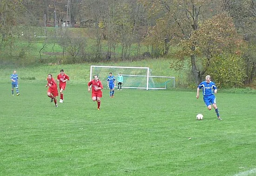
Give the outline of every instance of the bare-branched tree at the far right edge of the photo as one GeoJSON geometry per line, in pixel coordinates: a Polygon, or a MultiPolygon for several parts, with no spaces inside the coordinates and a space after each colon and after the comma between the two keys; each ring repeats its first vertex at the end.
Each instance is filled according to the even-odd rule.
{"type": "Polygon", "coordinates": [[[242,57],[246,62],[245,83],[251,83],[256,76],[256,0],[223,0],[222,9],[234,19],[237,31],[247,43],[242,57]]]}

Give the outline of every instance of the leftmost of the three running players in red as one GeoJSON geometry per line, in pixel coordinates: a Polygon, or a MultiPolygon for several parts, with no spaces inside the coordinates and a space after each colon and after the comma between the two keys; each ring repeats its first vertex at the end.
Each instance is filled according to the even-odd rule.
{"type": "Polygon", "coordinates": [[[55,107],[58,107],[56,96],[58,96],[57,84],[53,78],[53,75],[47,75],[47,85],[45,87],[49,87],[47,90],[48,97],[51,98],[51,102],[54,101],[55,107]]]}

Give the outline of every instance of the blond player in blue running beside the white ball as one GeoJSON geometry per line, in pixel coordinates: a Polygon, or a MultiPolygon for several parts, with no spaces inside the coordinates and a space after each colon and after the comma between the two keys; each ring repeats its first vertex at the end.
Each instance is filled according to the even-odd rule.
{"type": "Polygon", "coordinates": [[[220,113],[218,110],[218,107],[216,105],[216,97],[214,94],[217,94],[217,87],[215,85],[214,82],[211,81],[211,76],[207,75],[205,76],[205,81],[201,82],[198,87],[197,87],[197,94],[196,94],[196,98],[199,98],[199,90],[202,89],[202,94],[203,94],[203,101],[206,104],[207,108],[209,110],[212,109],[212,106],[215,109],[215,112],[217,114],[217,117],[219,120],[222,120],[220,118],[220,113]]]}

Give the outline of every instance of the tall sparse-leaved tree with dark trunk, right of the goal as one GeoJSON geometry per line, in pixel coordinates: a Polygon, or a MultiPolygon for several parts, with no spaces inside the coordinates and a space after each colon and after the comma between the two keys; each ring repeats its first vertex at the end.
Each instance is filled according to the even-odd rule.
{"type": "MultiPolygon", "coordinates": [[[[159,48],[167,52],[168,45],[166,44],[167,42],[165,42],[166,38],[170,43],[175,42],[176,39],[189,39],[191,33],[199,29],[200,23],[202,23],[205,18],[209,18],[208,15],[206,15],[206,9],[209,9],[208,5],[211,4],[211,1],[145,0],[144,4],[148,6],[148,12],[153,14],[153,18],[156,18],[159,21],[159,23],[156,23],[151,28],[152,35],[149,35],[149,37],[156,36],[155,40],[151,40],[151,43],[157,44],[159,48]]],[[[195,51],[195,44],[190,44],[190,50],[195,51]]],[[[202,75],[198,74],[196,56],[193,52],[191,52],[190,55],[190,63],[191,72],[195,78],[195,82],[200,82],[202,75]]]]}

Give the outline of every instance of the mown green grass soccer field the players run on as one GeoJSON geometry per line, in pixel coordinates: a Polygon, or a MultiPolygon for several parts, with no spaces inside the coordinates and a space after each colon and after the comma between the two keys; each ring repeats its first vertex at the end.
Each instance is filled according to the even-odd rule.
{"type": "Polygon", "coordinates": [[[123,89],[109,98],[103,89],[98,111],[86,84],[67,85],[59,107],[45,84],[23,82],[11,96],[11,83],[1,83],[1,176],[256,175],[255,94],[220,90],[217,120],[196,90],[123,89]]]}

